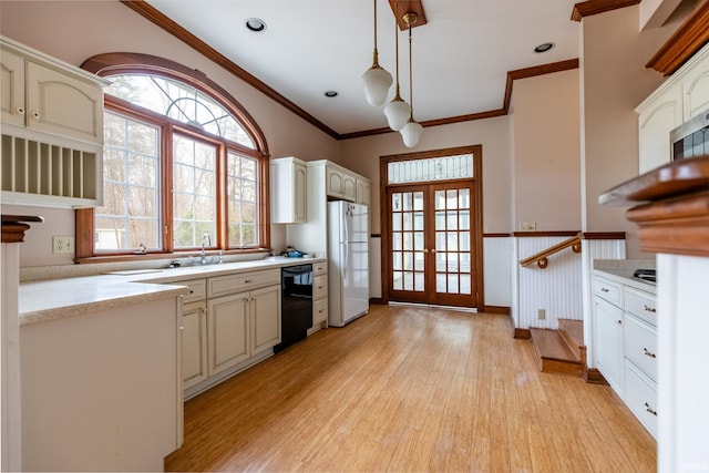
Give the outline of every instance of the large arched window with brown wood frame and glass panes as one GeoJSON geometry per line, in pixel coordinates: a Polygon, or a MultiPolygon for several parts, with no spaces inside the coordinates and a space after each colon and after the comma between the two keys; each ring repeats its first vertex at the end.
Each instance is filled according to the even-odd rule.
{"type": "Polygon", "coordinates": [[[76,213],[78,258],[269,246],[266,141],[226,91],[146,54],[102,54],[83,68],[111,85],[104,200],[76,213]]]}

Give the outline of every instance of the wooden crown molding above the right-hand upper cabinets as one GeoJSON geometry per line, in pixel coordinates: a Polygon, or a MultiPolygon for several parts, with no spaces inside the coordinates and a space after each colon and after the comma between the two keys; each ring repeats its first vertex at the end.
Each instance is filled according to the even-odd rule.
{"type": "Polygon", "coordinates": [[[702,0],[645,64],[667,76],[709,42],[709,0],[702,0]]]}

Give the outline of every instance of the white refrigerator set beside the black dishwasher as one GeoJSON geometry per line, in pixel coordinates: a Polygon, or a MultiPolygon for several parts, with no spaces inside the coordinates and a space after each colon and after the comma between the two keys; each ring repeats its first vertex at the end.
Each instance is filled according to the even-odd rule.
{"type": "Polygon", "coordinates": [[[369,310],[367,206],[328,203],[328,323],[342,327],[369,310]]]}

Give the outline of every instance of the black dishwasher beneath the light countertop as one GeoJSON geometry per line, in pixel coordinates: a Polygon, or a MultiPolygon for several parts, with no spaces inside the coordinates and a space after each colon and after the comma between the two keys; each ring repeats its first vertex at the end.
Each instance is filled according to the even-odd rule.
{"type": "Polygon", "coordinates": [[[312,265],[280,269],[280,343],[278,352],[302,340],[312,327],[312,265]]]}

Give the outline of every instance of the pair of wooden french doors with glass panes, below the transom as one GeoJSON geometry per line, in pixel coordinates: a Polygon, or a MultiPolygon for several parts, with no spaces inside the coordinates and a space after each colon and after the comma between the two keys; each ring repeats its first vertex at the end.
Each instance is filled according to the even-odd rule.
{"type": "Polygon", "coordinates": [[[387,187],[389,300],[477,307],[475,182],[387,187]]]}

